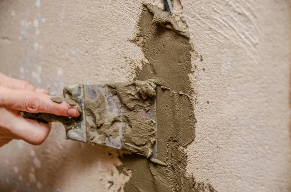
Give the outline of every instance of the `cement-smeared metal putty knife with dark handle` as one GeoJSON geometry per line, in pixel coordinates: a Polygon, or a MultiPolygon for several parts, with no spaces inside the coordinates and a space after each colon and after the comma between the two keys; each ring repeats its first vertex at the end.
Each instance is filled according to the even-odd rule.
{"type": "Polygon", "coordinates": [[[151,81],[65,87],[64,98],[78,105],[78,118],[21,112],[40,123],[64,124],[68,139],[128,150],[156,158],[156,85],[151,81]]]}

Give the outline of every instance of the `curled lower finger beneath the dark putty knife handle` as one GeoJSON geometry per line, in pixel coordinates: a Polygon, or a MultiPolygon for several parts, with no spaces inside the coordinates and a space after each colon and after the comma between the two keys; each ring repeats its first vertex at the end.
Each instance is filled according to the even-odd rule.
{"type": "Polygon", "coordinates": [[[22,118],[20,115],[10,114],[9,122],[6,122],[10,132],[18,139],[22,139],[32,145],[42,144],[51,129],[51,123],[39,124],[36,121],[22,118]]]}

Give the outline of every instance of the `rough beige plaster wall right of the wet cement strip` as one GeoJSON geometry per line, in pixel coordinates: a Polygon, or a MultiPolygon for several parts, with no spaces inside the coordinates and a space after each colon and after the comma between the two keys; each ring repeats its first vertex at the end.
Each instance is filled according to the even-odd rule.
{"type": "Polygon", "coordinates": [[[194,48],[196,137],[188,172],[218,191],[291,190],[287,1],[185,3],[194,48]]]}

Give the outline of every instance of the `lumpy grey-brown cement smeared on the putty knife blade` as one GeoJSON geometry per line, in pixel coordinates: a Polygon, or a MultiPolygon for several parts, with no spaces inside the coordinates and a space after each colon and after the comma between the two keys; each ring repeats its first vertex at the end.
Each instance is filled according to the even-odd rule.
{"type": "Polygon", "coordinates": [[[84,99],[87,141],[109,145],[106,142],[117,138],[114,140],[115,148],[151,156],[156,141],[156,125],[145,114],[155,104],[156,85],[151,81],[134,81],[105,84],[103,88],[107,97],[117,95],[120,107],[111,106],[116,103],[108,102],[105,93],[99,89],[95,100],[84,99]]]}

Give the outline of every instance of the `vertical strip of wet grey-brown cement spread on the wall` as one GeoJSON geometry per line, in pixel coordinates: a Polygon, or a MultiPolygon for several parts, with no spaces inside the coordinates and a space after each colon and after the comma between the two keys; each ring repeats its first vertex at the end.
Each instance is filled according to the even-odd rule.
{"type": "Polygon", "coordinates": [[[141,47],[148,63],[137,69],[138,80],[155,79],[157,86],[157,159],[162,164],[131,154],[121,158],[122,170],[131,170],[125,192],[198,192],[194,178],[185,175],[188,144],[194,141],[194,106],[188,32],[171,15],[145,4],[131,40],[141,47]]]}

